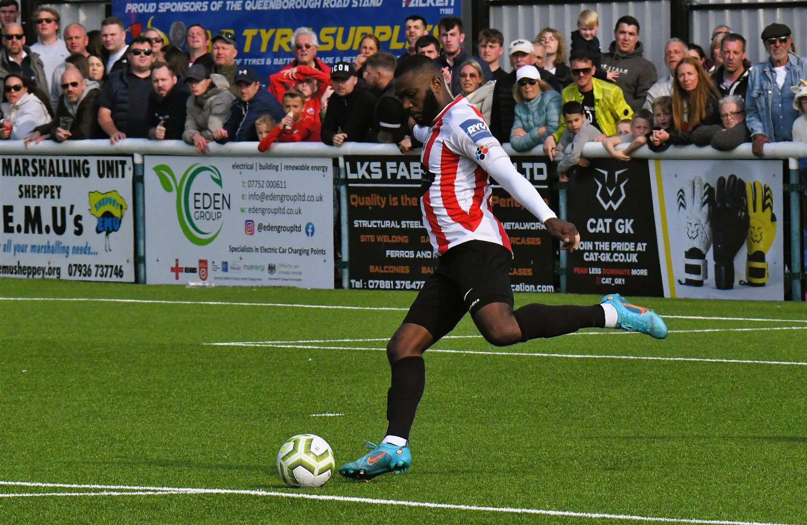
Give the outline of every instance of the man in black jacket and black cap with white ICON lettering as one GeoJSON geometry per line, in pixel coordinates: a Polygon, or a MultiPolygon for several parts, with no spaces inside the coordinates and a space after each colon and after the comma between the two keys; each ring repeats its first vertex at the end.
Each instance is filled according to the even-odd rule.
{"type": "Polygon", "coordinates": [[[376,97],[370,88],[358,84],[349,62],[337,62],[331,69],[333,94],[322,122],[322,141],[330,146],[363,142],[373,127],[376,97]]]}

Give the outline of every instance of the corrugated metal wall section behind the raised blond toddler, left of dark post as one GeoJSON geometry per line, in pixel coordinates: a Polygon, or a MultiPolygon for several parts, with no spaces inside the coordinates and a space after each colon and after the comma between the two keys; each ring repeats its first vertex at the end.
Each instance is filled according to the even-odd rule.
{"type": "MultiPolygon", "coordinates": [[[[577,16],[584,9],[594,9],[600,17],[597,38],[604,51],[613,40],[613,26],[622,15],[633,15],[641,25],[639,40],[644,46],[644,57],[656,66],[659,77],[667,76],[664,65],[664,44],[670,38],[669,0],[646,0],[645,2],[563,3],[530,5],[491,5],[491,27],[504,33],[505,46],[511,40],[533,40],[542,27],[550,26],[560,31],[566,39],[567,55],[571,31],[577,29],[577,16]]],[[[510,63],[503,57],[505,70],[510,63]]]]}

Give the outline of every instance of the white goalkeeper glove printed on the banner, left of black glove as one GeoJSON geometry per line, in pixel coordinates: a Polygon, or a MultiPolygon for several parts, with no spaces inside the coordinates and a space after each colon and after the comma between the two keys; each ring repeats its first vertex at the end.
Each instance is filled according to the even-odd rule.
{"type": "Polygon", "coordinates": [[[706,252],[712,246],[709,219],[714,204],[714,189],[700,177],[692,177],[678,190],[678,215],[684,224],[684,277],[679,284],[703,286],[707,277],[706,252]]]}

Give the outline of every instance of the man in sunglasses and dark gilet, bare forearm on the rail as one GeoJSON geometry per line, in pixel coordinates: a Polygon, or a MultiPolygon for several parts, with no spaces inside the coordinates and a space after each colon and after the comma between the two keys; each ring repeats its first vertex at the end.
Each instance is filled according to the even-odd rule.
{"type": "Polygon", "coordinates": [[[152,92],[151,66],[154,55],[151,40],[137,36],[129,44],[128,67],[113,71],[98,95],[98,123],[109,135],[111,144],[118,140],[148,138],[148,96],[152,92]]]}

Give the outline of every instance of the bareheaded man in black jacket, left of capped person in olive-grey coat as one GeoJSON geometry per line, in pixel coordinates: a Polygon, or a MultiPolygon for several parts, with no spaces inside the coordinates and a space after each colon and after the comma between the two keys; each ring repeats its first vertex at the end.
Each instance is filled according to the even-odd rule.
{"type": "Polygon", "coordinates": [[[167,62],[157,62],[152,69],[152,85],[146,109],[148,138],[182,140],[190,97],[187,84],[178,82],[177,73],[167,62]]]}

